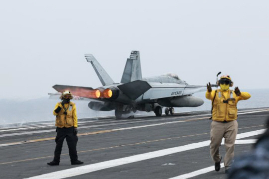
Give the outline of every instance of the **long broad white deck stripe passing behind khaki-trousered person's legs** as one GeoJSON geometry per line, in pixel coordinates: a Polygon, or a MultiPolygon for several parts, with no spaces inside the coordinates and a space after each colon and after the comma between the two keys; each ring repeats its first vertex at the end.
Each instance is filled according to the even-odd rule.
{"type": "MultiPolygon", "coordinates": [[[[261,130],[241,133],[241,134],[237,135],[237,139],[262,134],[265,130],[266,129],[261,129],[261,130]]],[[[76,167],[76,168],[72,168],[72,169],[66,169],[66,170],[62,170],[62,171],[52,172],[49,174],[43,174],[40,176],[31,177],[29,179],[64,179],[64,178],[83,175],[83,174],[87,174],[87,173],[91,173],[91,172],[95,172],[95,171],[99,171],[99,170],[103,170],[103,169],[108,169],[111,167],[117,167],[117,166],[121,166],[121,165],[125,165],[125,164],[144,161],[147,159],[162,157],[162,156],[166,156],[166,155],[170,155],[170,154],[174,154],[174,153],[178,153],[178,152],[183,152],[183,151],[187,151],[187,150],[206,147],[206,146],[209,146],[209,144],[210,144],[210,140],[198,142],[198,143],[192,143],[192,144],[188,144],[188,145],[184,145],[184,146],[173,147],[173,148],[158,150],[158,151],[154,151],[154,152],[138,154],[138,155],[134,155],[134,156],[130,156],[130,157],[100,162],[97,164],[90,164],[90,165],[85,165],[85,166],[76,167]]],[[[208,171],[208,170],[209,169],[207,169],[206,171],[208,171]]],[[[211,168],[210,168],[210,170],[211,170],[211,168]]],[[[214,168],[213,168],[213,170],[214,170],[214,168]]],[[[205,172],[205,173],[207,173],[207,172],[205,172]]],[[[201,173],[199,173],[199,174],[201,174],[201,173]]]]}

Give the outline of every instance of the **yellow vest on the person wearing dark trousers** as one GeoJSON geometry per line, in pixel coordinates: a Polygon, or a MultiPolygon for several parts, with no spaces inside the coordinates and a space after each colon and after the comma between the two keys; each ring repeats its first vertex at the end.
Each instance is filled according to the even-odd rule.
{"type": "MultiPolygon", "coordinates": [[[[59,102],[60,105],[61,102],[59,102]]],[[[72,109],[74,107],[75,103],[69,102],[68,107],[66,110],[64,109],[64,106],[61,108],[60,112],[56,115],[56,123],[55,125],[57,127],[63,128],[63,127],[72,127],[74,126],[73,123],[73,112],[72,109]],[[67,112],[67,114],[64,114],[64,111],[67,112]]]]}

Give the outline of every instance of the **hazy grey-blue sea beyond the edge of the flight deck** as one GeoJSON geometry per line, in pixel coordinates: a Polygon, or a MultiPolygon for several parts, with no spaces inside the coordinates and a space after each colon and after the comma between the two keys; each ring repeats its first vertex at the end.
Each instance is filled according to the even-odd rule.
{"type": "MultiPolygon", "coordinates": [[[[242,91],[249,92],[251,98],[239,101],[239,109],[269,107],[269,89],[243,89],[242,91]]],[[[211,110],[211,100],[205,98],[205,92],[195,93],[193,96],[202,98],[205,103],[199,107],[176,107],[175,112],[211,110]]],[[[58,101],[59,100],[49,99],[48,97],[30,100],[0,99],[0,124],[1,126],[11,123],[23,125],[27,122],[55,121],[55,116],[52,114],[52,111],[58,101]]],[[[73,102],[77,105],[78,118],[114,116],[114,110],[94,111],[90,109],[88,107],[89,101],[73,100],[73,102]]],[[[155,115],[153,112],[147,113],[140,111],[130,115],[136,114],[155,115]]]]}

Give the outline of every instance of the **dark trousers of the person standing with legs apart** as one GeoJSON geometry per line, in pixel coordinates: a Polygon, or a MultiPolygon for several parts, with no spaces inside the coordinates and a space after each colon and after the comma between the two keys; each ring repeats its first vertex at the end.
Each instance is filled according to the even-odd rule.
{"type": "Polygon", "coordinates": [[[77,154],[77,142],[78,137],[74,134],[74,127],[69,128],[59,128],[57,127],[57,136],[55,138],[56,148],[54,151],[54,161],[60,162],[60,156],[63,147],[63,141],[66,139],[68,149],[69,149],[69,156],[71,162],[78,160],[77,154]]]}

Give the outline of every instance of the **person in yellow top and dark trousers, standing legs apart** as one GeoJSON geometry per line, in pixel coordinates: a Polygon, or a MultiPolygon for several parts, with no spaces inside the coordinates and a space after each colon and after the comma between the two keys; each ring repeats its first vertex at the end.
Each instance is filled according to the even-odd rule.
{"type": "Polygon", "coordinates": [[[47,165],[59,165],[64,139],[66,139],[68,145],[71,165],[80,165],[83,164],[83,162],[78,160],[77,155],[78,118],[76,104],[70,101],[70,99],[73,98],[70,91],[63,91],[60,98],[62,101],[57,102],[53,111],[53,115],[56,116],[55,125],[57,126],[54,159],[53,161],[47,163],[47,165]]]}

